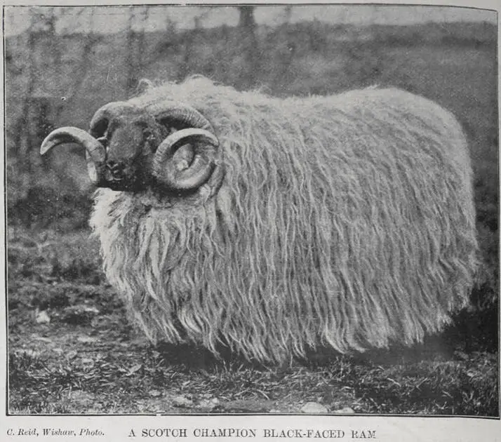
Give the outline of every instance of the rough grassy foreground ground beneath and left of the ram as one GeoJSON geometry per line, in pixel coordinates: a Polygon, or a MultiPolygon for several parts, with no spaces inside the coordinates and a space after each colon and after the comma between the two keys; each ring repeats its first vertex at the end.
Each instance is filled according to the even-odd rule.
{"type": "Polygon", "coordinates": [[[454,330],[413,349],[290,366],[152,347],[131,327],[88,231],[8,231],[9,410],[56,413],[499,415],[497,353],[454,330]],[[322,408],[317,408],[322,410],[322,408]]]}

